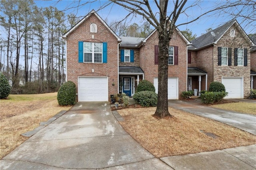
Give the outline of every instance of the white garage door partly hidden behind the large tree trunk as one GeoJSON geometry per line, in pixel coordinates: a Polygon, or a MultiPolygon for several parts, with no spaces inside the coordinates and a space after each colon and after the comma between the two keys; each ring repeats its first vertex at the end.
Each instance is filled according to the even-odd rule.
{"type": "MultiPolygon", "coordinates": [[[[158,93],[158,78],[154,78],[154,86],[158,93]]],[[[168,99],[179,99],[178,97],[178,78],[168,77],[168,99]]]]}

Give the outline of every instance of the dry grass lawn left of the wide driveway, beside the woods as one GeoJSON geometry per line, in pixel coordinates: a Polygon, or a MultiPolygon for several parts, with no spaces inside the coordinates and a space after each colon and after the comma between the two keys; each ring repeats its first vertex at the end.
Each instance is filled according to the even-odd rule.
{"type": "Polygon", "coordinates": [[[10,95],[0,100],[0,158],[2,159],[28,138],[21,136],[62,110],[57,93],[10,95]]]}

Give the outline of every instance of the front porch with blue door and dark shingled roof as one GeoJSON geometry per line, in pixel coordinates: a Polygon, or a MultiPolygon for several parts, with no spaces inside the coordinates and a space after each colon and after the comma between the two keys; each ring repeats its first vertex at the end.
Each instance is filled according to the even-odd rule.
{"type": "Polygon", "coordinates": [[[144,71],[136,66],[119,66],[119,93],[133,96],[139,82],[144,79],[144,71]]]}

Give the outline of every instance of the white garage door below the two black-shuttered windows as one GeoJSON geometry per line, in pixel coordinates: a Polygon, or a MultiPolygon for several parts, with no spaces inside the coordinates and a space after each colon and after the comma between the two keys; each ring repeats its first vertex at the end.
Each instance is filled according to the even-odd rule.
{"type": "Polygon", "coordinates": [[[223,77],[222,84],[225,86],[228,96],[225,99],[244,98],[243,78],[241,77],[223,77]]]}

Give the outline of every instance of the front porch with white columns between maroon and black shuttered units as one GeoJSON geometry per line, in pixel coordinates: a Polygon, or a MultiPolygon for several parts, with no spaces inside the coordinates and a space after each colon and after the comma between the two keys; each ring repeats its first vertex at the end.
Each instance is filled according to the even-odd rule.
{"type": "Polygon", "coordinates": [[[197,67],[188,67],[187,90],[197,91],[196,96],[201,90],[207,90],[207,73],[197,67]]]}

